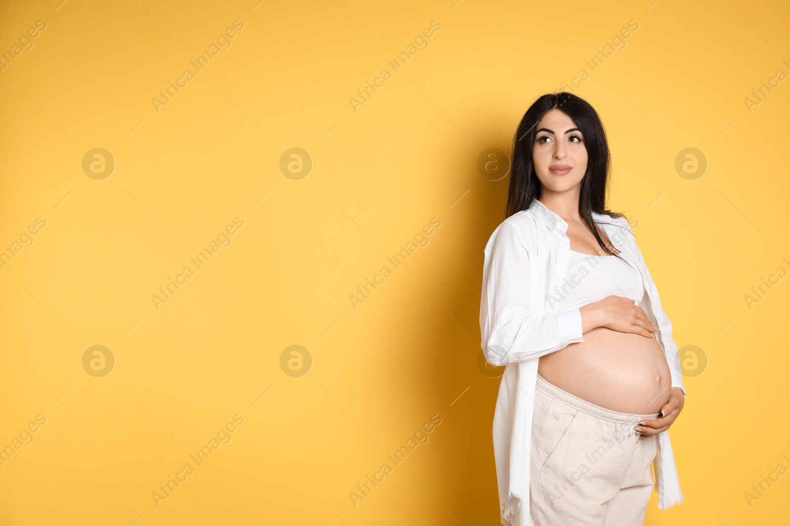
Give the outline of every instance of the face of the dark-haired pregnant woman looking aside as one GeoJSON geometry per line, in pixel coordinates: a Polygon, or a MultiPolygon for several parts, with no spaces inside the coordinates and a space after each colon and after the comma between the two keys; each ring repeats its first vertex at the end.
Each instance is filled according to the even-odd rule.
{"type": "Polygon", "coordinates": [[[567,192],[581,185],[587,172],[587,147],[573,119],[562,110],[548,110],[536,125],[532,163],[543,190],[567,192]]]}

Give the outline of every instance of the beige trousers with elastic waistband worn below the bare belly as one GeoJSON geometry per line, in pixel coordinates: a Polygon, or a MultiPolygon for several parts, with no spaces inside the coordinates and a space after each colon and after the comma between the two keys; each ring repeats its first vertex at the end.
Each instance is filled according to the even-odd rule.
{"type": "Polygon", "coordinates": [[[643,526],[658,435],[642,418],[589,403],[538,375],[529,459],[530,526],[643,526]]]}

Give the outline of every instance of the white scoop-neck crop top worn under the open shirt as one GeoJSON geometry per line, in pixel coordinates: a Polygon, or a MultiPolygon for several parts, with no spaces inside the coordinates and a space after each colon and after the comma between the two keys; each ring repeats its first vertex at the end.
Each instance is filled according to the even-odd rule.
{"type": "Polygon", "coordinates": [[[550,293],[549,306],[559,313],[608,296],[627,297],[638,305],[645,295],[645,285],[639,271],[619,257],[571,250],[565,279],[550,293]]]}

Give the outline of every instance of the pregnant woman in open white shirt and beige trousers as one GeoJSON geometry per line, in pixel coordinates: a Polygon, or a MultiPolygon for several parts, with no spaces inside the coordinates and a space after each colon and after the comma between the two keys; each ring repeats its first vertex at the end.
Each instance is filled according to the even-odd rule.
{"type": "Polygon", "coordinates": [[[678,349],[629,222],[605,208],[608,172],[589,103],[529,107],[480,301],[483,353],[507,365],[494,453],[508,526],[641,526],[654,488],[660,509],[683,502],[667,431],[686,395],[678,349]]]}

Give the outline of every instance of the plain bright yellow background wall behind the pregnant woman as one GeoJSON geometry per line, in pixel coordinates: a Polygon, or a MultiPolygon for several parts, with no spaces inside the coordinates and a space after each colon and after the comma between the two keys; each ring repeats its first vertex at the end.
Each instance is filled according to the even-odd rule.
{"type": "Polygon", "coordinates": [[[0,50],[2,524],[499,524],[498,378],[478,368],[483,247],[508,150],[538,95],[563,87],[629,21],[626,47],[578,88],[608,130],[608,206],[632,218],[686,378],[672,427],[686,502],[646,524],[786,524],[790,270],[785,2],[6,3],[0,50]],[[152,98],[244,24],[157,113],[152,98]],[[442,24],[400,71],[387,64],[442,24]],[[355,112],[349,99],[393,77],[355,112]],[[110,177],[86,152],[115,159],[110,177]],[[313,161],[280,171],[292,147],[313,161]],[[675,157],[708,161],[693,181],[675,157]],[[265,196],[265,199],[261,200],[265,196]],[[64,199],[65,198],[65,199],[64,199]],[[228,247],[157,310],[152,295],[233,218],[228,247]],[[431,218],[441,226],[357,309],[348,297],[431,218]],[[88,375],[104,345],[115,367],[88,375]],[[280,368],[303,345],[307,375],[280,368]],[[697,374],[698,371],[690,371],[697,374]],[[261,395],[265,396],[261,397],[261,395]],[[452,404],[452,405],[451,405],[452,404]],[[244,423],[157,507],[152,492],[236,414],[244,423]],[[384,482],[348,494],[423,423],[441,425],[384,482]],[[732,520],[732,522],[729,522],[732,520]]]}

